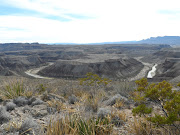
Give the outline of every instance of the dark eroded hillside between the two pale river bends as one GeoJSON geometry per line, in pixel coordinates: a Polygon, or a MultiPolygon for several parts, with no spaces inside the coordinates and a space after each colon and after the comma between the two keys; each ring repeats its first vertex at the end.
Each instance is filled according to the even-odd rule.
{"type": "Polygon", "coordinates": [[[39,75],[49,77],[84,77],[93,72],[108,78],[127,78],[135,76],[143,68],[143,64],[133,58],[111,59],[104,62],[82,63],[77,61],[58,61],[39,71],[39,75]]]}

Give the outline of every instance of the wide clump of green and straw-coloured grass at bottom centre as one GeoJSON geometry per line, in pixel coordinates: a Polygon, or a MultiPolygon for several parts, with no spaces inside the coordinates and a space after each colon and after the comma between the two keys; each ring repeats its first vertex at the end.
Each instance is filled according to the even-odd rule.
{"type": "Polygon", "coordinates": [[[51,120],[47,125],[47,135],[109,135],[113,131],[111,119],[89,118],[79,115],[66,116],[59,120],[51,120]]]}

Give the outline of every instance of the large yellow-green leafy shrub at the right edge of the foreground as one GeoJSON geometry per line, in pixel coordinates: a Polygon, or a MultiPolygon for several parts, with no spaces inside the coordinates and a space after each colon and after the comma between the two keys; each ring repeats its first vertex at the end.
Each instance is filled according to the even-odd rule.
{"type": "Polygon", "coordinates": [[[133,114],[145,117],[153,126],[163,128],[171,126],[173,131],[170,132],[179,134],[180,92],[172,90],[172,85],[166,81],[148,84],[147,79],[143,78],[136,81],[136,84],[133,99],[139,105],[132,110],[133,114]],[[148,107],[147,101],[159,106],[161,112],[155,112],[153,108],[148,107]]]}

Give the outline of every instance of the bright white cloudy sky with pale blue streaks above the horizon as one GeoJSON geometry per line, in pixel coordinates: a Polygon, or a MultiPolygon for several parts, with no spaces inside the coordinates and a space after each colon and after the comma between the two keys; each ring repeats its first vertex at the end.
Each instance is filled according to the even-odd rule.
{"type": "Polygon", "coordinates": [[[178,0],[0,0],[0,43],[180,36],[178,0]]]}

